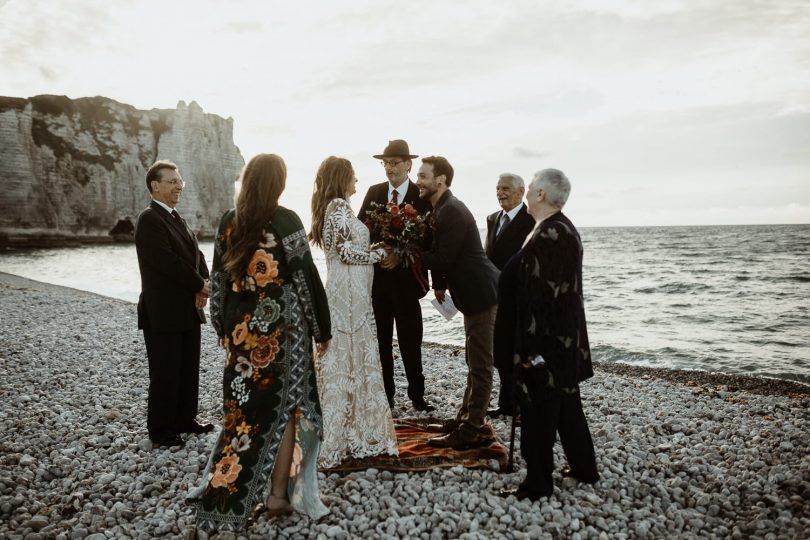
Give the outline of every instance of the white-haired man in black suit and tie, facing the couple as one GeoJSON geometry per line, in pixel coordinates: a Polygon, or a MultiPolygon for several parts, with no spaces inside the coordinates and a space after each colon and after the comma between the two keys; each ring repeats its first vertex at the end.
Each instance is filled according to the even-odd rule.
{"type": "MultiPolygon", "coordinates": [[[[523,246],[523,241],[534,228],[534,218],[523,204],[525,192],[523,178],[512,173],[503,173],[498,178],[495,194],[501,210],[487,216],[486,253],[498,270],[503,270],[506,262],[523,246]]],[[[512,415],[512,356],[515,341],[515,306],[509,303],[509,295],[501,295],[500,290],[510,284],[499,282],[498,315],[495,317],[493,352],[495,367],[501,379],[498,392],[498,408],[487,411],[492,418],[512,415]]]]}

